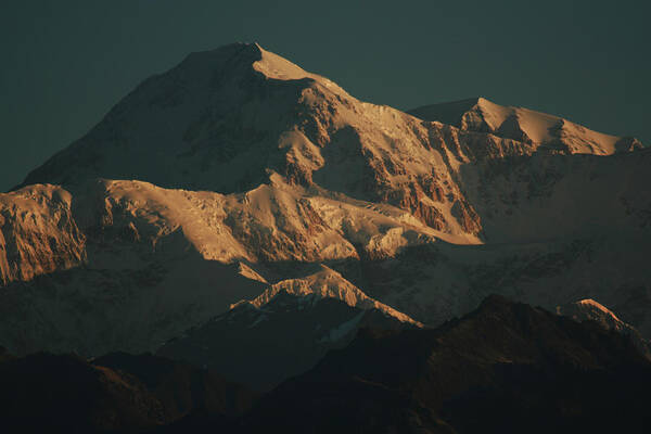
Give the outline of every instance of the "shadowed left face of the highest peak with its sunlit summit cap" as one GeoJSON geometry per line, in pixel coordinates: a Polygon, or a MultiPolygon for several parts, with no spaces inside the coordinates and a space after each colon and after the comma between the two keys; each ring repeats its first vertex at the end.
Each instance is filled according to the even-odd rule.
{"type": "Polygon", "coordinates": [[[299,133],[292,137],[290,124],[301,117],[299,101],[317,92],[345,95],[330,80],[257,43],[192,53],[144,80],[88,135],[33,170],[23,186],[102,177],[246,191],[267,178],[268,167],[284,163],[278,158],[283,132],[288,146],[298,141],[309,148],[299,133]]]}

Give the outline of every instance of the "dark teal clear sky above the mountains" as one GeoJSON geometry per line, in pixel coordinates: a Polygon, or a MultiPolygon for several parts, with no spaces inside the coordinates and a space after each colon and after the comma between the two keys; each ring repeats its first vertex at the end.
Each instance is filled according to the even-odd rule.
{"type": "Polygon", "coordinates": [[[0,191],[151,74],[234,41],[362,100],[407,110],[483,95],[649,145],[646,3],[2,0],[0,191]]]}

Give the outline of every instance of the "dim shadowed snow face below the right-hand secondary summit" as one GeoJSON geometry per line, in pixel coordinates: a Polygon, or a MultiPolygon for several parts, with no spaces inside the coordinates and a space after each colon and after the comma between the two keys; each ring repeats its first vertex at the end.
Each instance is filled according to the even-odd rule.
{"type": "Polygon", "coordinates": [[[593,237],[614,228],[648,235],[649,151],[512,155],[464,165],[460,174],[486,243],[593,237]]]}

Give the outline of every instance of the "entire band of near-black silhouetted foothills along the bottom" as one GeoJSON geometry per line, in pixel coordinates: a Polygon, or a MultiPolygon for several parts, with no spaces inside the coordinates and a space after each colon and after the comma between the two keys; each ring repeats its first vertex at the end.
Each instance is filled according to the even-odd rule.
{"type": "Polygon", "coordinates": [[[253,408],[254,393],[152,355],[37,354],[0,363],[0,381],[11,432],[636,432],[651,418],[651,362],[628,336],[501,296],[437,329],[360,329],[253,408]]]}

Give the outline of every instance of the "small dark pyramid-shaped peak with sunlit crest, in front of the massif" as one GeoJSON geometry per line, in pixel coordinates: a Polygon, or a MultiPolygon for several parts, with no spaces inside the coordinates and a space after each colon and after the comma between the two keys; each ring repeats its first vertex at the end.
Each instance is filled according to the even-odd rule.
{"type": "Polygon", "coordinates": [[[361,328],[396,330],[422,324],[360,292],[322,267],[281,281],[253,301],[191,329],[158,349],[206,366],[255,390],[270,390],[348,344],[361,328]]]}

